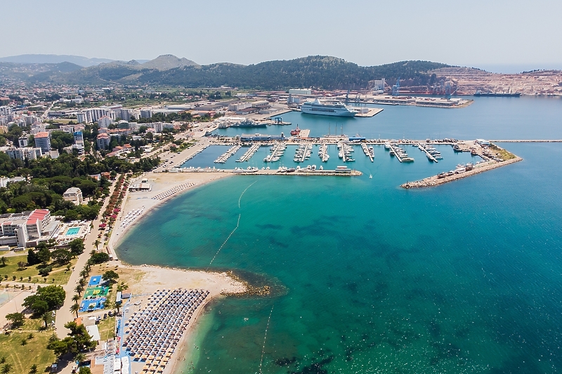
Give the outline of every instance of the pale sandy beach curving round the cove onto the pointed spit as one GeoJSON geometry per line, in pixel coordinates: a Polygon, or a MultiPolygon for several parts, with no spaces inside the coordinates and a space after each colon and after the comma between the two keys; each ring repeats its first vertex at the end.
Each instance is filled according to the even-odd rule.
{"type": "MultiPolygon", "coordinates": [[[[115,247],[126,236],[126,232],[136,225],[141,218],[147,215],[153,208],[165,203],[169,199],[183,192],[206,185],[209,182],[226,178],[232,173],[199,172],[199,173],[147,173],[132,180],[129,185],[139,183],[146,179],[152,186],[148,192],[127,192],[124,197],[121,211],[117,215],[115,228],[109,240],[108,249],[114,256],[115,261],[107,264],[107,269],[117,265],[120,280],[129,286],[127,292],[135,296],[124,305],[123,318],[128,319],[135,312],[140,312],[148,304],[148,298],[157,290],[175,288],[208,290],[209,295],[204,302],[197,307],[189,323],[189,327],[183,333],[181,341],[171,359],[166,365],[164,373],[174,373],[176,365],[185,356],[186,342],[192,341],[193,326],[197,323],[198,316],[211,300],[223,295],[233,295],[247,292],[244,283],[231,278],[226,273],[188,271],[183,269],[171,269],[150,265],[130,266],[117,260],[115,247]],[[133,213],[133,214],[131,214],[133,213]],[[131,219],[132,218],[132,219],[131,219]],[[122,225],[123,222],[129,222],[122,225]]],[[[144,362],[131,361],[132,372],[141,372],[144,362]]]]}

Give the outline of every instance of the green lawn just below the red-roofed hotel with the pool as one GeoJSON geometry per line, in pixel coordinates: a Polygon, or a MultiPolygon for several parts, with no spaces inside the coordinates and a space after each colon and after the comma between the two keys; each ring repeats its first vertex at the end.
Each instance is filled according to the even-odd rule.
{"type": "Polygon", "coordinates": [[[76,264],[77,259],[74,258],[70,261],[70,270],[67,270],[67,265],[57,265],[54,262],[50,265],[53,267],[53,271],[48,274],[47,281],[45,281],[43,276],[39,276],[39,270],[37,267],[41,267],[41,265],[32,265],[30,267],[26,267],[25,269],[18,268],[18,262],[27,262],[27,255],[20,255],[20,256],[13,256],[13,257],[6,257],[6,266],[0,265],[0,276],[2,281],[12,281],[13,276],[15,275],[15,281],[20,281],[20,278],[23,278],[24,282],[29,283],[48,283],[48,284],[66,284],[68,279],[70,279],[70,274],[72,274],[72,267],[76,264]],[[6,279],[6,275],[8,279],[6,279]],[[32,277],[32,280],[29,281],[29,277],[32,277]],[[53,281],[55,279],[55,281],[53,281]]]}

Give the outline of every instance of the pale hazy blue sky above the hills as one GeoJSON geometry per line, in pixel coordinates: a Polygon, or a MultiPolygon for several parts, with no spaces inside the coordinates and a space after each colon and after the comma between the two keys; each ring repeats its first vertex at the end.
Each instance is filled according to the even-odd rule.
{"type": "Polygon", "coordinates": [[[562,69],[562,1],[4,1],[0,55],[562,69]]]}

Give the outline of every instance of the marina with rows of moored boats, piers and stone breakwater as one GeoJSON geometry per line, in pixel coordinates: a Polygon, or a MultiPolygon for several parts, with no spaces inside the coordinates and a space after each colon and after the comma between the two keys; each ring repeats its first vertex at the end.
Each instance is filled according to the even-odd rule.
{"type": "MultiPolygon", "coordinates": [[[[430,163],[439,163],[439,161],[443,160],[443,156],[441,155],[444,152],[444,149],[450,149],[452,154],[459,154],[459,153],[467,153],[471,157],[476,157],[475,161],[467,162],[463,161],[462,165],[466,166],[466,171],[472,171],[472,167],[468,165],[475,165],[474,169],[478,169],[478,173],[484,170],[490,170],[490,168],[482,168],[482,163],[490,162],[490,163],[501,163],[503,161],[507,161],[511,158],[516,156],[509,154],[509,152],[505,151],[494,145],[493,143],[483,140],[457,140],[452,138],[443,138],[443,139],[426,139],[426,140],[411,140],[411,139],[365,139],[356,135],[355,137],[348,138],[345,135],[341,135],[338,138],[335,137],[325,137],[325,138],[308,138],[306,140],[302,140],[299,138],[282,138],[278,140],[269,140],[268,137],[263,138],[263,140],[256,141],[256,140],[249,140],[243,142],[242,146],[238,144],[240,139],[238,138],[221,138],[220,141],[214,140],[213,138],[205,138],[203,145],[200,149],[197,149],[196,152],[200,153],[203,149],[207,149],[207,147],[212,147],[214,149],[215,154],[219,156],[214,156],[214,162],[221,161],[224,166],[221,168],[215,168],[207,163],[190,163],[186,162],[182,164],[181,167],[174,167],[167,169],[170,173],[234,173],[237,175],[277,175],[274,168],[270,170],[270,166],[268,163],[272,162],[279,162],[280,167],[287,168],[287,174],[290,173],[299,173],[299,175],[334,175],[336,173],[341,173],[338,170],[338,167],[342,164],[345,165],[347,163],[355,163],[355,159],[353,158],[353,152],[355,152],[356,148],[361,147],[362,153],[365,154],[367,158],[367,162],[370,164],[377,165],[377,161],[374,159],[374,147],[384,147],[384,149],[388,150],[391,159],[396,158],[398,159],[399,163],[412,163],[414,162],[414,158],[408,155],[406,151],[406,146],[416,147],[419,149],[420,152],[423,152],[424,155],[427,157],[430,163]],[[343,138],[342,138],[343,137],[343,138]],[[350,141],[351,139],[351,141],[350,141]],[[245,146],[245,147],[244,147],[245,146]],[[263,147],[261,147],[263,146],[263,147]],[[266,146],[268,148],[266,148],[266,146]],[[446,147],[445,147],[446,146],[446,147]],[[218,153],[219,149],[224,149],[223,147],[229,147],[226,152],[221,151],[218,153]],[[237,163],[240,162],[249,162],[249,166],[244,166],[243,168],[234,166],[232,161],[229,161],[230,157],[237,152],[240,152],[240,149],[244,147],[246,150],[244,154],[242,154],[237,160],[237,163]],[[311,154],[313,149],[318,147],[318,156],[320,161],[322,161],[323,166],[320,168],[316,168],[314,165],[307,165],[307,166],[300,166],[302,163],[306,163],[306,161],[311,159],[311,154]],[[268,152],[266,153],[266,149],[268,152]],[[287,159],[285,156],[286,150],[289,149],[289,152],[294,152],[292,159],[287,159]],[[294,151],[292,151],[294,149],[294,151]],[[337,152],[337,158],[334,161],[330,159],[330,153],[337,152]],[[260,153],[258,153],[260,152],[260,153]],[[254,154],[258,154],[258,157],[253,157],[254,154]],[[510,156],[511,155],[511,156],[510,156]],[[289,161],[290,160],[290,161],[289,161]],[[339,162],[334,164],[334,162],[339,162]],[[197,166],[196,166],[197,165],[197,166]],[[323,169],[323,170],[322,170],[323,169]]],[[[203,159],[209,159],[207,157],[203,157],[203,159]]],[[[440,185],[443,182],[448,182],[450,180],[458,179],[458,175],[464,173],[464,171],[459,172],[459,168],[452,168],[451,171],[442,172],[442,173],[435,173],[433,180],[431,183],[428,183],[427,180],[424,182],[407,182],[407,185],[404,184],[403,187],[405,188],[414,188],[414,187],[431,187],[433,185],[440,185]],[[456,172],[455,172],[456,171],[456,172]],[[455,173],[455,175],[447,175],[447,173],[455,173]],[[446,177],[446,178],[445,178],[446,177]],[[436,182],[438,180],[438,182],[436,182]]],[[[369,171],[367,175],[370,175],[372,178],[372,170],[370,170],[366,165],[361,161],[358,166],[353,168],[353,173],[348,175],[362,175],[365,171],[369,171]],[[358,171],[359,173],[355,173],[358,171]]],[[[466,173],[463,175],[473,175],[473,173],[466,173]]]]}

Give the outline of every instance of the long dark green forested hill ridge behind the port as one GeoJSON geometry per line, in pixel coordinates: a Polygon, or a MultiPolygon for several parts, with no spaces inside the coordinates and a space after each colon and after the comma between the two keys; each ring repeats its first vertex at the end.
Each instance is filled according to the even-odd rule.
{"type": "Polygon", "coordinates": [[[370,81],[385,78],[393,83],[398,77],[410,84],[425,85],[428,72],[448,67],[439,62],[402,61],[392,64],[362,67],[341,58],[308,56],[294,60],[275,60],[256,65],[218,63],[188,65],[171,69],[147,69],[143,65],[102,64],[74,72],[50,76],[52,81],[67,84],[98,84],[108,81],[122,84],[152,86],[256,88],[284,90],[294,87],[324,89],[370,88],[370,81]]]}

